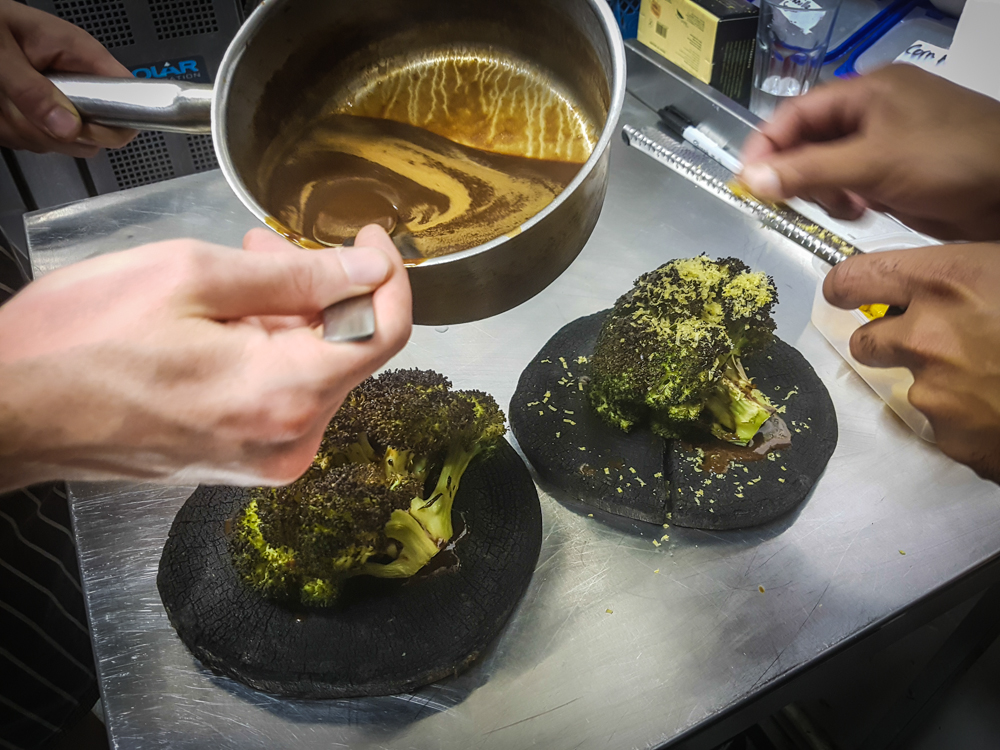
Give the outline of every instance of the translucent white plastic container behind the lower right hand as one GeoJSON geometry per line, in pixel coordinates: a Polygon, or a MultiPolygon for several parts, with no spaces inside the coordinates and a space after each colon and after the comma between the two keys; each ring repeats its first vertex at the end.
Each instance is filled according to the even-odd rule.
{"type": "MultiPolygon", "coordinates": [[[[899,234],[873,238],[865,244],[865,251],[879,252],[921,247],[928,242],[917,234],[899,234]]],[[[829,266],[826,270],[829,270],[829,266]]],[[[823,276],[825,277],[825,273],[823,276]]],[[[823,278],[820,278],[813,298],[813,325],[918,437],[933,443],[934,428],[927,417],[913,408],[907,399],[907,393],[913,385],[913,374],[905,367],[867,367],[851,356],[851,336],[868,321],[869,318],[860,310],[841,310],[828,303],[823,297],[823,278]]]]}

